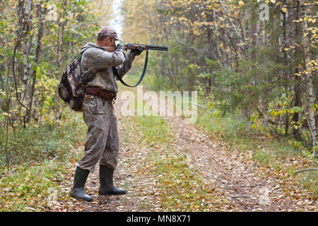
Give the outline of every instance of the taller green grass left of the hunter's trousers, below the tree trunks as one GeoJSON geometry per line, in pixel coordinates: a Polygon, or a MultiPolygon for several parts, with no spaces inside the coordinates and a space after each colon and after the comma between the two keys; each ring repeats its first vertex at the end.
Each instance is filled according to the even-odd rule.
{"type": "MultiPolygon", "coordinates": [[[[69,115],[70,116],[70,115],[69,115]]],[[[6,151],[11,165],[21,163],[42,162],[47,159],[63,160],[65,155],[74,148],[76,143],[85,141],[85,129],[82,120],[73,114],[67,121],[59,124],[48,120],[45,124],[34,124],[26,129],[17,126],[15,132],[8,133],[8,148],[6,147],[6,126],[0,128],[0,165],[6,165],[6,151]],[[73,119],[73,121],[71,121],[73,119]]]]}

